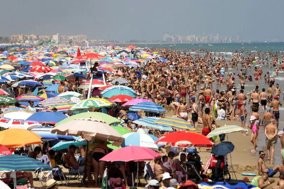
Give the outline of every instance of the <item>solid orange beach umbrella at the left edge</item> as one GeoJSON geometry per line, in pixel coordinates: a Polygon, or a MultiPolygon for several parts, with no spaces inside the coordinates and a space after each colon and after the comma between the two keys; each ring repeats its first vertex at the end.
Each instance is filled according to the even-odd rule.
{"type": "Polygon", "coordinates": [[[6,129],[0,131],[0,144],[7,148],[41,144],[41,137],[26,129],[6,129]]]}

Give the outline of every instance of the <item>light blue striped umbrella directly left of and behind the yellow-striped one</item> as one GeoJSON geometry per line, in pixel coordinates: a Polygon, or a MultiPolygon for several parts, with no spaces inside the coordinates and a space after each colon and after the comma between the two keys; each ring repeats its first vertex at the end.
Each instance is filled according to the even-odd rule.
{"type": "Polygon", "coordinates": [[[138,125],[142,125],[142,126],[145,126],[145,127],[150,127],[150,128],[153,128],[153,129],[158,129],[160,131],[170,131],[170,132],[173,131],[170,126],[155,123],[155,121],[157,121],[157,120],[160,120],[160,118],[158,118],[158,117],[143,117],[143,118],[140,118],[140,119],[133,121],[133,123],[138,124],[138,125]]]}

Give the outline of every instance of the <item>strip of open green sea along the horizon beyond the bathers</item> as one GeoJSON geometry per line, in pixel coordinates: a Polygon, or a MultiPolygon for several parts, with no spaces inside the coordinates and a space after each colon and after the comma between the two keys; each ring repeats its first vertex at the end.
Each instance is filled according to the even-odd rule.
{"type": "Polygon", "coordinates": [[[138,47],[160,47],[169,49],[208,49],[213,52],[241,52],[241,51],[266,51],[279,52],[284,50],[284,42],[252,42],[252,43],[161,43],[161,44],[137,44],[138,47]]]}

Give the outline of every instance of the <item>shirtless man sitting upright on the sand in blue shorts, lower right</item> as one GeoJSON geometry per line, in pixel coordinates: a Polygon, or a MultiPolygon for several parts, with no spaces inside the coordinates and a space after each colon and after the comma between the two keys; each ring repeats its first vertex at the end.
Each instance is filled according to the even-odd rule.
{"type": "MultiPolygon", "coordinates": [[[[259,158],[257,160],[257,165],[258,165],[258,175],[261,175],[262,173],[267,173],[268,177],[273,177],[278,171],[281,173],[281,165],[275,166],[273,169],[268,169],[265,162],[264,162],[264,157],[265,153],[264,151],[259,151],[258,153],[259,158]]],[[[281,173],[283,174],[283,173],[281,173]]]]}

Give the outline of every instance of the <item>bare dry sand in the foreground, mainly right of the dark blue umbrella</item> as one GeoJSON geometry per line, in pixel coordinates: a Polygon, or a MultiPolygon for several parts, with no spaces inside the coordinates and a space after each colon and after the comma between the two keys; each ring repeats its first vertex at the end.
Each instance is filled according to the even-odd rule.
{"type": "MultiPolygon", "coordinates": [[[[217,124],[219,125],[239,125],[240,126],[240,121],[217,121],[217,124]]],[[[202,126],[199,125],[198,131],[201,132],[202,126]]],[[[230,133],[227,134],[225,141],[230,141],[235,145],[235,150],[231,153],[232,156],[232,164],[234,167],[234,170],[236,172],[236,176],[238,180],[243,180],[243,177],[241,174],[242,173],[257,173],[257,154],[253,154],[250,152],[252,150],[252,144],[250,143],[250,130],[248,131],[247,136],[242,136],[241,133],[230,133]]],[[[261,137],[259,137],[259,140],[263,140],[261,137]]],[[[219,137],[216,140],[216,143],[219,143],[219,137]]],[[[276,149],[276,151],[280,151],[280,149],[276,149]]],[[[202,148],[200,152],[201,159],[203,160],[203,163],[205,164],[207,162],[207,159],[210,155],[209,151],[206,151],[206,148],[202,148]]],[[[228,156],[228,161],[230,163],[230,156],[228,156]]],[[[267,165],[269,167],[273,167],[274,164],[267,162],[267,165]]],[[[230,166],[231,167],[231,166],[230,166]]],[[[231,172],[232,170],[230,170],[231,172]]],[[[233,173],[231,172],[231,177],[233,176],[233,173]]],[[[278,182],[278,176],[277,174],[274,179],[276,182],[274,183],[273,186],[275,186],[278,182]]],[[[248,177],[249,181],[253,179],[253,177],[248,177]]],[[[142,183],[145,183],[144,179],[141,179],[142,183]]],[[[41,183],[40,182],[35,182],[35,186],[41,188],[41,183]]],[[[80,187],[80,182],[79,181],[71,181],[69,186],[60,186],[59,189],[81,189],[80,187]]],[[[89,188],[94,188],[94,187],[89,187],[89,188]]],[[[272,188],[272,187],[268,187],[272,188]]]]}

